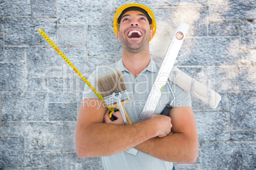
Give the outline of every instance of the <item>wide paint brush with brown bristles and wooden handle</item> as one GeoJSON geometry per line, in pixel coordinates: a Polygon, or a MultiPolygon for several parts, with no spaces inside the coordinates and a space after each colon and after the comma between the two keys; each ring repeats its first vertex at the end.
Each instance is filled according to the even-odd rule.
{"type": "MultiPolygon", "coordinates": [[[[132,124],[127,112],[124,109],[124,104],[131,98],[126,97],[121,100],[122,95],[126,93],[126,86],[122,76],[122,72],[118,69],[110,70],[99,74],[95,77],[96,86],[99,93],[103,96],[107,107],[117,108],[120,110],[122,118],[125,124],[132,124]]],[[[110,113],[111,121],[113,119],[112,113],[110,113]]]]}

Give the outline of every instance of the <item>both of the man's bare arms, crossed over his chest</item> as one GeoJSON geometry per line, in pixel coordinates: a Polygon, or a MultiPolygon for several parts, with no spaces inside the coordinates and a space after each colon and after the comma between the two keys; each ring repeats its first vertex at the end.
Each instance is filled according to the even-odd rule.
{"type": "Polygon", "coordinates": [[[198,140],[196,120],[191,107],[174,107],[165,115],[131,125],[108,119],[108,111],[99,99],[85,99],[76,124],[78,157],[101,157],[136,148],[145,154],[169,162],[196,162],[198,140]],[[98,103],[88,105],[91,101],[98,103]],[[169,135],[170,131],[173,134],[169,135]]]}

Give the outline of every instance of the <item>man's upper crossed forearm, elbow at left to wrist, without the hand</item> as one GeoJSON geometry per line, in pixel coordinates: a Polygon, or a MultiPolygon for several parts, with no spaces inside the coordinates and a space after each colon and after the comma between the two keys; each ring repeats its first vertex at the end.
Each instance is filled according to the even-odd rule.
{"type": "Polygon", "coordinates": [[[79,157],[100,157],[118,154],[157,136],[150,121],[129,126],[92,123],[78,129],[76,148],[79,157]],[[82,132],[82,133],[81,133],[82,132]]]}

